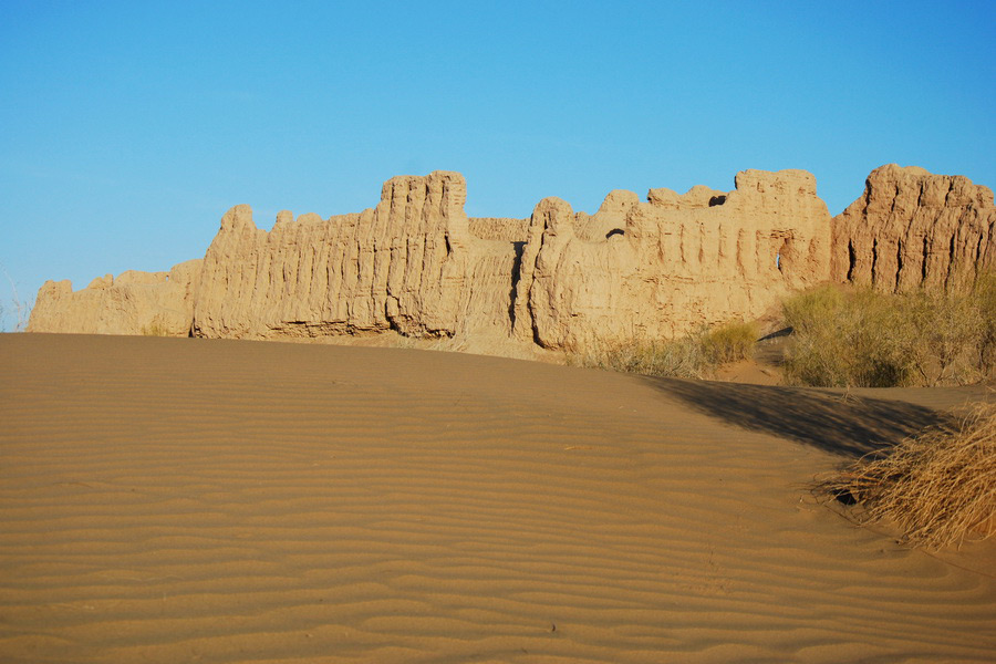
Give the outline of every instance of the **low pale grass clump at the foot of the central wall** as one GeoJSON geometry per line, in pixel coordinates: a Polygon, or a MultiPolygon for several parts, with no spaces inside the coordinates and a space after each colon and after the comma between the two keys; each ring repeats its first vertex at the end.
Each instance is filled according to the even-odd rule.
{"type": "Polygon", "coordinates": [[[570,353],[567,362],[653,376],[705,378],[720,364],[751,357],[756,339],[755,325],[732,322],[682,339],[593,345],[570,353]]]}

